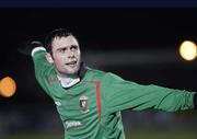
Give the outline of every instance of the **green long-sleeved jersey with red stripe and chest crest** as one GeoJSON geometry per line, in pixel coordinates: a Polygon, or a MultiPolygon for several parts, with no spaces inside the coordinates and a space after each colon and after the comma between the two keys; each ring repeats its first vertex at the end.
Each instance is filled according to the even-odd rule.
{"type": "Polygon", "coordinates": [[[141,85],[111,72],[88,68],[81,81],[63,89],[45,50],[33,55],[35,76],[53,99],[66,139],[125,139],[120,111],[194,108],[193,92],[141,85]]]}

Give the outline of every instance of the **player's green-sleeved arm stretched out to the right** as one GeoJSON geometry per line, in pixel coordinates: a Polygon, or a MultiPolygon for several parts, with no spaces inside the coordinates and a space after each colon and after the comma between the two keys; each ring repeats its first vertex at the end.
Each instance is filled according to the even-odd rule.
{"type": "Polygon", "coordinates": [[[106,74],[105,100],[108,111],[148,108],[167,112],[197,108],[197,94],[185,90],[167,89],[158,85],[141,85],[125,81],[115,74],[106,74]]]}

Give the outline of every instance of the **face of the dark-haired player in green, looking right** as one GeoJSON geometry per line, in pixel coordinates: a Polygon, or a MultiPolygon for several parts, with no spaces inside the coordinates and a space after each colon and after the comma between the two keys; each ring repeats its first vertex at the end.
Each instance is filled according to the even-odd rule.
{"type": "Polygon", "coordinates": [[[53,62],[59,76],[72,76],[79,71],[81,51],[73,36],[56,37],[51,43],[53,62]]]}

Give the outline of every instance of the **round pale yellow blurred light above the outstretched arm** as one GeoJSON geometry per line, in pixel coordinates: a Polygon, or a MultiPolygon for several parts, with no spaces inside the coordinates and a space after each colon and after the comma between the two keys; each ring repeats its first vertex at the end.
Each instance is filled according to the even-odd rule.
{"type": "Polygon", "coordinates": [[[185,40],[179,46],[179,55],[185,60],[194,60],[197,56],[197,46],[190,40],[185,40]]]}

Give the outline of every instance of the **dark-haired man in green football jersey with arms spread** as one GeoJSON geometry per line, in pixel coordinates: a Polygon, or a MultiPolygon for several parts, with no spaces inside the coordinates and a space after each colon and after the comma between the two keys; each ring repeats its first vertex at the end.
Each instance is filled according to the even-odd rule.
{"type": "Polygon", "coordinates": [[[35,76],[57,106],[66,139],[125,139],[120,111],[185,111],[197,106],[195,92],[125,81],[116,74],[85,67],[78,39],[58,28],[45,48],[32,42],[35,76]]]}

